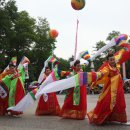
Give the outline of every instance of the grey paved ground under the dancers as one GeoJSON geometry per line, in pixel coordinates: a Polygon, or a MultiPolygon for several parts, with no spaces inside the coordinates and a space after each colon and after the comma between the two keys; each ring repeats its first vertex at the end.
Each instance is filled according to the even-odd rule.
{"type": "MultiPolygon", "coordinates": [[[[125,95],[127,115],[130,121],[130,94],[125,95]]],[[[88,111],[95,106],[98,95],[88,95],[88,111]]],[[[64,96],[59,95],[62,106],[64,96]]],[[[36,117],[34,115],[37,103],[25,111],[21,117],[0,117],[0,130],[129,130],[130,126],[119,124],[105,124],[103,126],[90,125],[85,120],[62,119],[55,116],[36,117]]]]}

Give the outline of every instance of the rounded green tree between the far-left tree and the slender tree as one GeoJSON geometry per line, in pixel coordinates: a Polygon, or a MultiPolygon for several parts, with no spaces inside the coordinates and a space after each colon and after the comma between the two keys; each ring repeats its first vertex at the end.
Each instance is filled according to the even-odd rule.
{"type": "Polygon", "coordinates": [[[14,32],[11,45],[16,49],[16,54],[29,51],[35,39],[35,19],[31,18],[26,11],[19,12],[14,32]]]}

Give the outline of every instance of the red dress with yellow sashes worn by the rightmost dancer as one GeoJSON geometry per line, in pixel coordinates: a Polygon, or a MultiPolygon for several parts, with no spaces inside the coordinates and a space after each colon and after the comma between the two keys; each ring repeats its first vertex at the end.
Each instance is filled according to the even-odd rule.
{"type": "Polygon", "coordinates": [[[100,71],[105,72],[108,81],[104,84],[96,107],[87,115],[90,123],[103,124],[106,121],[127,122],[126,104],[122,78],[119,68],[113,69],[108,64],[100,71]]]}

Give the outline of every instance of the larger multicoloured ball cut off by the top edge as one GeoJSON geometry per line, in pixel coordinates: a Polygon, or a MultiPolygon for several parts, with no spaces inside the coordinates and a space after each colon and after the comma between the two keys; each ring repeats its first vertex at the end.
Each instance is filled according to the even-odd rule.
{"type": "Polygon", "coordinates": [[[81,10],[85,6],[85,0],[71,0],[71,6],[75,10],[81,10]]]}

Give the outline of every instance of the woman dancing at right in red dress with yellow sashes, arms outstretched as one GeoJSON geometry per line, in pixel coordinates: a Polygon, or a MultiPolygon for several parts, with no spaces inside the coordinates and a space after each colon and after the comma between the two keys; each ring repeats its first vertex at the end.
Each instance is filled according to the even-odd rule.
{"type": "Polygon", "coordinates": [[[96,107],[87,113],[90,123],[101,125],[105,122],[112,121],[121,123],[127,122],[126,103],[119,63],[120,61],[130,59],[128,55],[127,58],[123,57],[123,55],[128,53],[130,55],[130,49],[127,51],[119,51],[118,54],[120,55],[116,55],[118,63],[116,63],[116,58],[113,54],[108,54],[107,62],[100,68],[100,72],[103,73],[103,76],[94,83],[94,85],[100,83],[104,84],[104,87],[98,98],[96,107]]]}

